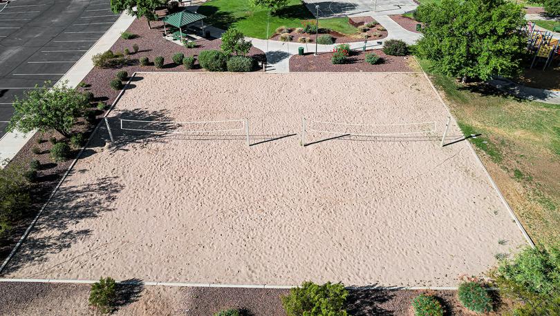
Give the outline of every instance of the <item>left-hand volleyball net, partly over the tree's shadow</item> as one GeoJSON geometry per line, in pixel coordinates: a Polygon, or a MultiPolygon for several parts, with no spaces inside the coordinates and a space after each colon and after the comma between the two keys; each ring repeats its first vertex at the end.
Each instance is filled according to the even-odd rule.
{"type": "Polygon", "coordinates": [[[225,121],[143,121],[138,119],[121,119],[120,129],[175,134],[235,132],[245,129],[245,119],[225,121]]]}

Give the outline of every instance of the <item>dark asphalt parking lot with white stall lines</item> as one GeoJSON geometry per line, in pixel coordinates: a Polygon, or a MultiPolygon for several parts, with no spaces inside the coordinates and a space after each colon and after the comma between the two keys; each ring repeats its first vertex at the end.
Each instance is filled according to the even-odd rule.
{"type": "Polygon", "coordinates": [[[0,3],[0,138],[15,97],[55,84],[118,19],[109,0],[0,3]]]}

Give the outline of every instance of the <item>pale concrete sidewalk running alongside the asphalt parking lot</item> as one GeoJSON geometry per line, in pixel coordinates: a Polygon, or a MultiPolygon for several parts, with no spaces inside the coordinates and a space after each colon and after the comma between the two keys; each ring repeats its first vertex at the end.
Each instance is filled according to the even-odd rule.
{"type": "MultiPolygon", "coordinates": [[[[113,23],[113,26],[103,34],[103,36],[97,40],[95,45],[93,45],[83,56],[77,61],[66,75],[62,77],[55,86],[61,85],[63,82],[67,81],[67,86],[75,87],[80,81],[86,77],[86,75],[93,69],[93,62],[91,57],[100,52],[109,50],[111,46],[120,37],[120,33],[127,30],[131,23],[134,21],[134,17],[123,12],[119,19],[113,23]]],[[[35,132],[28,132],[23,134],[21,132],[8,132],[0,139],[0,168],[6,165],[7,161],[12,159],[21,148],[27,143],[27,141],[35,135],[35,132]]]]}

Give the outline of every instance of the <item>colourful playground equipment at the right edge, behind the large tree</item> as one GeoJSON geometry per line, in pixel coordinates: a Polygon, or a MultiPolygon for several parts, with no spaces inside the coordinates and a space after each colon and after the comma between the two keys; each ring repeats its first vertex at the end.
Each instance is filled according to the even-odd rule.
{"type": "Polygon", "coordinates": [[[557,57],[559,52],[559,40],[552,38],[552,32],[548,30],[535,30],[534,22],[528,22],[525,32],[528,34],[527,49],[530,54],[533,54],[533,61],[531,67],[538,61],[544,61],[543,70],[545,70],[554,57],[557,57]]]}

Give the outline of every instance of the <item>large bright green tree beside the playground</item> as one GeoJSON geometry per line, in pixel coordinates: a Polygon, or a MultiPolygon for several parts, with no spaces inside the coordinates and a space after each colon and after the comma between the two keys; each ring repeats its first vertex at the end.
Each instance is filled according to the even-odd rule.
{"type": "Polygon", "coordinates": [[[445,75],[487,80],[519,74],[526,39],[521,6],[506,0],[443,0],[420,5],[426,23],[418,55],[445,75]]]}

